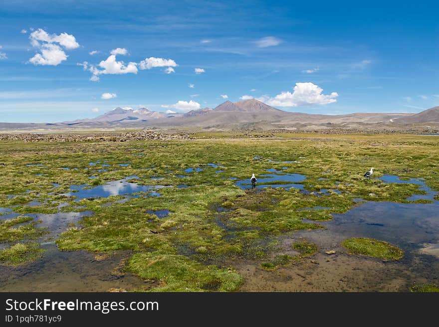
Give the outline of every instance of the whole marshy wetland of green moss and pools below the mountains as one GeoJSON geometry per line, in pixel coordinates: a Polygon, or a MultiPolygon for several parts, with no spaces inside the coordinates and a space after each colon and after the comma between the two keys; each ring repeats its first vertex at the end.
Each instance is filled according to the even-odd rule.
{"type": "Polygon", "coordinates": [[[0,154],[3,292],[439,285],[438,138],[2,140],[0,154]]]}

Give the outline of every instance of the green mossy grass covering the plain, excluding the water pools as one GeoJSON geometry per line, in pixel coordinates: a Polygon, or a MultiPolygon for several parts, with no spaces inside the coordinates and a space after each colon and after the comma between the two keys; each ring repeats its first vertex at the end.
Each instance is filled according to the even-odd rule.
{"type": "MultiPolygon", "coordinates": [[[[249,138],[204,133],[181,141],[3,141],[0,153],[0,207],[13,208],[23,215],[14,219],[22,220],[26,213],[91,210],[92,215],[59,236],[58,248],[110,254],[131,250],[125,269],[160,281],[153,291],[237,290],[241,277],[224,262],[258,259],[268,270],[295,262],[286,257],[267,262],[276,236],[322,228],[319,221],[346,212],[357,198],[409,202],[410,195],[425,193],[415,184],[385,183],[377,178],[383,174],[423,177],[439,190],[439,138],[431,136],[249,138]],[[373,178],[365,180],[363,173],[372,166],[373,178]],[[187,168],[201,170],[186,172],[187,168]],[[243,190],[231,179],[260,176],[273,168],[305,175],[300,183],[309,192],[282,187],[243,190]],[[132,175],[138,178],[131,181],[139,184],[172,187],[161,188],[159,197],[140,193],[123,203],[118,202],[120,195],[78,201],[64,195],[71,185],[91,188],[132,175]],[[36,205],[26,205],[34,200],[36,205]],[[67,204],[58,207],[61,203],[67,204]],[[219,212],[219,207],[227,210],[219,212]],[[147,213],[163,209],[170,211],[168,217],[147,213]]],[[[0,242],[26,244],[43,232],[35,221],[20,223],[25,225],[0,223],[0,242]]],[[[27,247],[30,251],[32,245],[27,247]]],[[[302,255],[317,251],[310,244],[296,244],[295,249],[302,255]]],[[[12,254],[3,259],[11,258],[12,254]]]]}

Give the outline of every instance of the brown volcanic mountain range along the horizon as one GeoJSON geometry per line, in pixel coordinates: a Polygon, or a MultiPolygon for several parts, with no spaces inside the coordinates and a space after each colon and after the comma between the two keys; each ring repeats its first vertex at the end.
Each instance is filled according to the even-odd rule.
{"type": "Polygon", "coordinates": [[[65,129],[65,128],[182,128],[202,130],[233,129],[325,129],[368,125],[401,126],[408,124],[439,124],[439,107],[418,114],[355,113],[348,115],[315,115],[286,112],[255,99],[225,101],[214,109],[203,108],[187,113],[162,113],[146,108],[115,108],[92,119],[78,119],[51,124],[0,123],[0,129],[65,129]]]}

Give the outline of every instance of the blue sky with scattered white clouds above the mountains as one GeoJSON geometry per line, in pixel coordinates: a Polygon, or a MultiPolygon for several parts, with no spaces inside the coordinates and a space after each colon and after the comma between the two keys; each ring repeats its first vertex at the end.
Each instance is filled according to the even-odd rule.
{"type": "Polygon", "coordinates": [[[353,2],[2,1],[0,122],[225,96],[319,114],[439,105],[439,4],[353,2]]]}

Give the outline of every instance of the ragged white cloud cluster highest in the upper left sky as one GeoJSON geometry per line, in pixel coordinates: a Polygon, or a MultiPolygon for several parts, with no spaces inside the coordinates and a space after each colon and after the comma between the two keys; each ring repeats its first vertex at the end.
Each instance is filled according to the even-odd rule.
{"type": "Polygon", "coordinates": [[[67,33],[48,34],[45,30],[38,28],[29,35],[30,43],[38,48],[40,53],[36,53],[29,62],[34,65],[51,65],[57,66],[64,60],[67,55],[64,49],[76,49],[79,43],[76,38],[67,33]]]}

